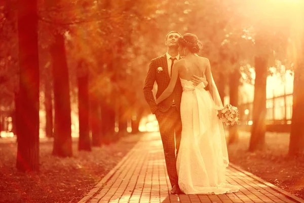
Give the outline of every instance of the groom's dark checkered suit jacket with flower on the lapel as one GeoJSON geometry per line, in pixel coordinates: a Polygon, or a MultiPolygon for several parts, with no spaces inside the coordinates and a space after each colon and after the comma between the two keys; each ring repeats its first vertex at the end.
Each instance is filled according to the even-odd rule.
{"type": "Polygon", "coordinates": [[[179,78],[176,81],[173,93],[168,98],[163,100],[158,106],[155,103],[153,93],[151,91],[155,81],[158,85],[156,93],[156,98],[158,98],[167,88],[170,82],[166,54],[151,60],[149,70],[144,81],[143,94],[153,114],[157,109],[161,112],[167,111],[171,107],[173,99],[177,110],[180,111],[182,87],[179,78]],[[163,71],[158,72],[158,67],[162,67],[163,71]]]}

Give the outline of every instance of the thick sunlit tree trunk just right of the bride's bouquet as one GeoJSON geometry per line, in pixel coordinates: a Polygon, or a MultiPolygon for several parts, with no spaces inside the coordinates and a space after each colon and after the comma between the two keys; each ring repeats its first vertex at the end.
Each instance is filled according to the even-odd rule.
{"type": "Polygon", "coordinates": [[[267,66],[266,58],[255,57],[255,82],[254,82],[254,98],[252,111],[252,128],[249,151],[261,150],[265,145],[266,132],[266,81],[267,66]]]}

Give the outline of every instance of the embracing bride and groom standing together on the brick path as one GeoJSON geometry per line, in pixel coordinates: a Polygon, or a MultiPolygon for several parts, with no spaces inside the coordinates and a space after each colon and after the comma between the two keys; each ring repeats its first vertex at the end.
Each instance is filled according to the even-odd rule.
{"type": "Polygon", "coordinates": [[[229,159],[217,117],[223,106],[210,62],[197,55],[201,44],[192,33],[171,31],[165,45],[167,53],[150,62],[143,92],[159,122],[171,194],[236,192],[225,181],[229,159]]]}

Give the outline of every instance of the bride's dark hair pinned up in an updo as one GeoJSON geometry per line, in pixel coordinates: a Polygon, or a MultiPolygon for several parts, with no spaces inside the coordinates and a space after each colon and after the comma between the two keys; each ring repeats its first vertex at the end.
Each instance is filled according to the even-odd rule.
{"type": "Polygon", "coordinates": [[[192,33],[185,33],[178,39],[178,45],[187,47],[192,53],[199,53],[202,49],[202,43],[198,37],[192,33]]]}

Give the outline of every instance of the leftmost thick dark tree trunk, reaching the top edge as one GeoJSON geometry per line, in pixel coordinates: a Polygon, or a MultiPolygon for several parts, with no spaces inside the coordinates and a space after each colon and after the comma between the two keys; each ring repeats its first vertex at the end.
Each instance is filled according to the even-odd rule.
{"type": "Polygon", "coordinates": [[[37,2],[18,1],[18,171],[39,171],[39,58],[37,2]]]}

